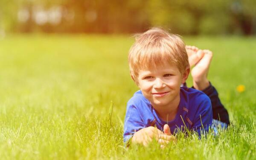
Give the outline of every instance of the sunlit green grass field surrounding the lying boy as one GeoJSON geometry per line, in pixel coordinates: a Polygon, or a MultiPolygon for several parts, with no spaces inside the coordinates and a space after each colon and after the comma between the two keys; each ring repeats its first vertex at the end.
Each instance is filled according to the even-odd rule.
{"type": "Polygon", "coordinates": [[[0,158],[255,159],[256,38],[184,38],[213,51],[209,79],[232,126],[207,140],[181,137],[163,150],[156,143],[123,147],[126,102],[138,90],[127,62],[133,41],[126,35],[1,39],[0,158]]]}

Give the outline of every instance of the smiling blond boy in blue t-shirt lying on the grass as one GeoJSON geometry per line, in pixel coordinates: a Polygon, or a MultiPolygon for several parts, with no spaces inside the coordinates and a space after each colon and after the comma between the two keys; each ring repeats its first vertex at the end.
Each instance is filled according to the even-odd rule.
{"type": "MultiPolygon", "coordinates": [[[[224,108],[207,80],[211,56],[208,50],[185,47],[180,37],[162,29],[153,28],[139,35],[128,59],[131,77],[140,90],[127,104],[124,142],[147,145],[156,139],[163,145],[175,141],[172,134],[184,126],[199,135],[207,132],[213,122],[211,99],[214,105],[224,108]],[[180,87],[186,85],[192,65],[194,87],[198,90],[180,87]],[[199,90],[209,92],[211,99],[199,90]]],[[[222,112],[217,109],[216,113],[222,112]]]]}

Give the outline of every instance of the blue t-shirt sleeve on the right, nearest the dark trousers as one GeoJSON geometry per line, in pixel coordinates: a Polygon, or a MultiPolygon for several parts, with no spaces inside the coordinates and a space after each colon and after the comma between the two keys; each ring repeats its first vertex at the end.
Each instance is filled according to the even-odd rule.
{"type": "Polygon", "coordinates": [[[205,135],[212,125],[212,105],[207,95],[204,94],[199,97],[198,110],[195,113],[192,129],[197,131],[199,137],[201,137],[201,133],[205,135]]]}

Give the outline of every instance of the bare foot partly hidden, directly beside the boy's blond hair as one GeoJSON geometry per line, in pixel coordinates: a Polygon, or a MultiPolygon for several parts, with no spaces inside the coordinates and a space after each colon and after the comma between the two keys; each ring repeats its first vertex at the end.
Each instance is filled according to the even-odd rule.
{"type": "Polygon", "coordinates": [[[199,50],[198,47],[186,46],[186,51],[189,57],[190,68],[192,68],[192,66],[197,64],[198,61],[200,61],[200,59],[203,58],[204,56],[204,52],[202,51],[198,52],[198,50],[199,50]]]}

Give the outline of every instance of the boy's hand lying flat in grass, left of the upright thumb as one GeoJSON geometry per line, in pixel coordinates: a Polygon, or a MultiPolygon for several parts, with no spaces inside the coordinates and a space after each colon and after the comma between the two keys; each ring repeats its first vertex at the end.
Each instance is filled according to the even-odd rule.
{"type": "Polygon", "coordinates": [[[155,127],[147,127],[143,128],[133,135],[131,139],[131,143],[140,143],[144,146],[147,146],[149,142],[151,142],[153,139],[158,140],[158,135],[163,134],[159,129],[155,127]]]}

